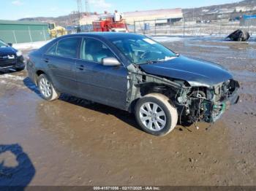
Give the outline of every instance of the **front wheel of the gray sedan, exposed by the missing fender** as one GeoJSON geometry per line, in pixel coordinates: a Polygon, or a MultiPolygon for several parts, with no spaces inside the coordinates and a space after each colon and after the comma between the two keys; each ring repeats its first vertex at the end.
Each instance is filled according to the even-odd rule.
{"type": "Polygon", "coordinates": [[[169,98],[151,93],[140,98],[135,106],[135,117],[140,127],[154,136],[165,136],[178,122],[178,112],[169,98]]]}

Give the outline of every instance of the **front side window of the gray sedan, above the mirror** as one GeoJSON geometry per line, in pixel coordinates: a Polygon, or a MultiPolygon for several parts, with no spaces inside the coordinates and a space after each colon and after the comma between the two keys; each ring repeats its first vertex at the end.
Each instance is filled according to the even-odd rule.
{"type": "Polygon", "coordinates": [[[83,39],[80,57],[85,61],[102,62],[102,58],[116,58],[116,56],[97,39],[83,39]]]}

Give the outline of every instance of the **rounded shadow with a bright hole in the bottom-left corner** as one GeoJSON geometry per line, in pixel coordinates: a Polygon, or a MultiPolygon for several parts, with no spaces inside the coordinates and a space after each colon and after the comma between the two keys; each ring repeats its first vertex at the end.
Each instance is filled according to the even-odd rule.
{"type": "Polygon", "coordinates": [[[0,145],[0,190],[24,190],[36,170],[19,144],[0,145]]]}

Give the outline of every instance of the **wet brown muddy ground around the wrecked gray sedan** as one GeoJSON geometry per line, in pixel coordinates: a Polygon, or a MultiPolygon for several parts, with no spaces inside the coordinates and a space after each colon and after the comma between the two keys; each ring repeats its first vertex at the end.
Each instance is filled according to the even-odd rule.
{"type": "Polygon", "coordinates": [[[0,74],[0,185],[255,185],[256,44],[164,44],[230,69],[239,103],[211,128],[155,137],[132,114],[67,95],[47,102],[26,71],[0,74]]]}

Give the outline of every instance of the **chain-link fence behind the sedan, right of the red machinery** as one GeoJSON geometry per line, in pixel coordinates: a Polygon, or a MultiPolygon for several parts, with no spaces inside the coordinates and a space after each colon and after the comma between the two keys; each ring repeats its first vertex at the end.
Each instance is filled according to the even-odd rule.
{"type": "Polygon", "coordinates": [[[240,26],[239,20],[192,20],[191,17],[177,22],[171,19],[135,21],[133,26],[129,26],[129,31],[150,35],[204,36],[228,35],[238,28],[256,34],[256,25],[249,22],[246,26],[240,26]]]}

